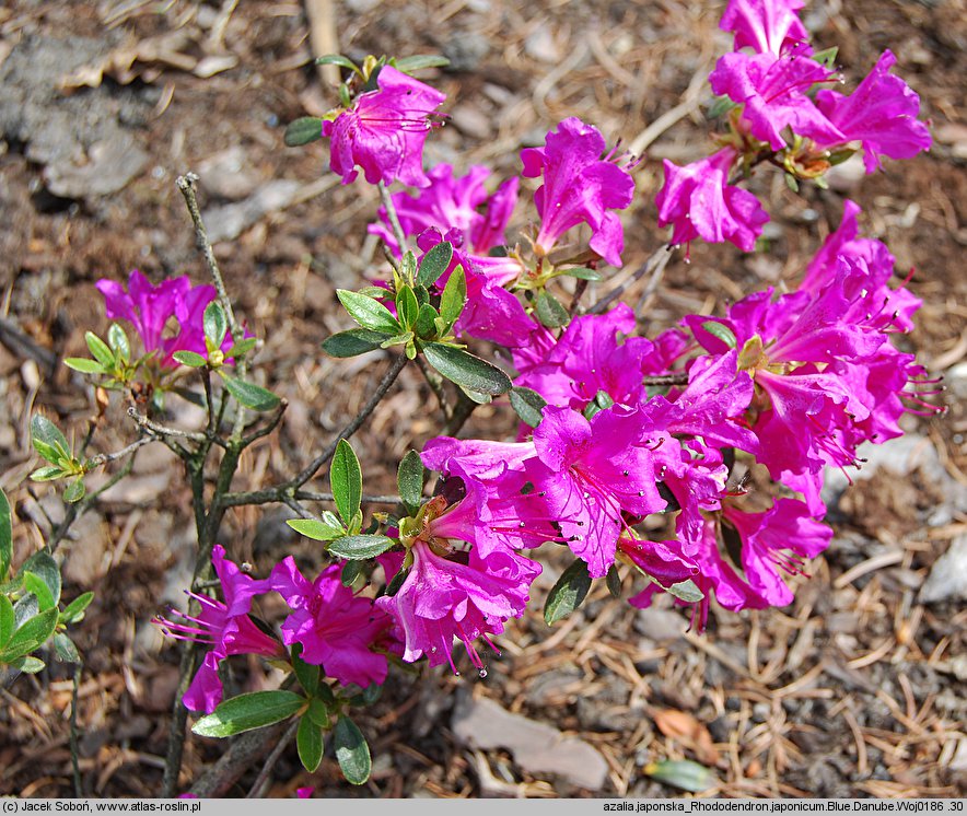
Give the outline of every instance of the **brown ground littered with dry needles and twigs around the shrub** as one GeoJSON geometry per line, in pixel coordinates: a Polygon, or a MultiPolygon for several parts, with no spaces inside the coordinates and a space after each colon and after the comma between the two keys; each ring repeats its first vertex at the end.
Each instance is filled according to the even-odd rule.
{"type": "MultiPolygon", "coordinates": [[[[699,80],[729,48],[715,27],[722,4],[713,2],[331,7],[335,24],[316,25],[335,33],[333,50],[451,59],[448,69],[424,74],[447,94],[451,115],[429,142],[429,160],[486,163],[499,177],[517,172],[520,149],[540,143],[566,116],[594,123],[609,141],[633,143],[695,96],[696,77],[701,97],[699,80]]],[[[534,614],[509,627],[486,680],[399,673],[359,718],[376,757],[368,785],[340,781],[329,758],[310,776],[290,747],[269,795],[293,795],[301,785],[340,796],[683,795],[645,773],[665,758],[701,761],[722,795],[964,795],[967,610],[963,597],[921,603],[918,594],[932,564],[967,531],[958,499],[967,483],[964,2],[835,0],[812,3],[805,20],[820,47],[839,45],[849,83],[893,49],[897,72],[921,95],[934,148],[869,177],[843,172],[832,189],[801,195],[762,173],[753,184],[771,202],[768,253],[696,246],[690,264],[676,256],[644,304],[640,285],[628,301],[644,306],[642,330],[651,334],[686,311],[711,313],[762,285],[794,285],[838,223],[843,198],[852,198],[867,233],[896,255],[898,271],[916,270],[909,285],[924,305],[902,342],[953,381],[947,416],[908,418],[927,453],[887,456],[835,503],[837,537],[812,564],[812,578],[799,582],[791,607],[713,613],[703,636],[683,633],[684,613],[638,613],[603,586],[550,630],[539,610],[561,564],[547,559],[534,614]],[[451,727],[458,693],[492,698],[592,744],[609,766],[604,786],[535,776],[499,747],[471,750],[451,727]]],[[[336,101],[311,63],[308,32],[302,3],[275,0],[13,0],[0,8],[0,487],[15,509],[19,561],[42,545],[46,515],[62,512],[55,488],[26,480],[37,466],[31,413],[43,409],[79,435],[95,411],[85,378],[56,362],[85,353],[85,329],[106,327],[94,282],[124,280],[132,268],[154,280],[206,278],[178,174],[201,176],[229,290],[265,338],[259,371],[290,403],[279,432],[246,456],[236,487],[271,483],[307,462],[385,369],[373,355],[336,361],[319,351],[322,339],[348,326],[335,290],[358,288],[382,267],[365,233],[375,191],[339,185],[326,170],[324,144],[282,144],[286,123],[336,101]]],[[[660,160],[689,161],[708,149],[704,102],[661,129],[634,171],[640,195],[625,214],[627,269],[665,240],[652,203],[660,160]]],[[[515,223],[526,218],[522,206],[515,223]]],[[[195,419],[187,410],[172,417],[195,419]]],[[[358,436],[368,490],[392,491],[401,455],[436,428],[432,395],[405,372],[358,436]]],[[[512,412],[494,404],[475,413],[464,434],[514,431],[512,412]]],[[[133,436],[112,406],[101,450],[133,436]]],[[[175,461],[150,451],[62,548],[66,596],[96,592],[75,634],[84,655],[78,725],[89,794],[154,795],[160,785],[178,653],[150,619],[187,585],[193,523],[175,461]]],[[[221,539],[256,571],[290,551],[312,559],[286,517],[271,506],[240,510],[226,517],[221,539]]],[[[277,681],[255,661],[233,673],[238,688],[277,681]]],[[[0,793],[71,794],[70,678],[70,667],[51,660],[40,675],[0,689],[0,793]]],[[[182,788],[221,750],[189,739],[182,788]]],[[[231,793],[244,793],[257,770],[231,793]]]]}

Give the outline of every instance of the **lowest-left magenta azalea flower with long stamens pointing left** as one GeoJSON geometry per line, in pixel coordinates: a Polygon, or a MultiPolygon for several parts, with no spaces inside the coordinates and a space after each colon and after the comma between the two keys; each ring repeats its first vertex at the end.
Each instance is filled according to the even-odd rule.
{"type": "Polygon", "coordinates": [[[256,581],[243,573],[236,564],[225,559],[225,549],[220,545],[212,548],[211,561],[222,585],[224,603],[207,595],[187,593],[201,605],[198,617],[172,609],[172,614],[179,615],[188,622],[177,623],[160,616],[154,621],[171,638],[212,646],[182,700],[189,711],[203,711],[206,714],[214,711],[222,701],[224,690],[218,669],[225,657],[230,654],[261,654],[266,657],[284,654],[281,643],[266,634],[248,617],[252,599],[268,592],[269,582],[256,581]]]}

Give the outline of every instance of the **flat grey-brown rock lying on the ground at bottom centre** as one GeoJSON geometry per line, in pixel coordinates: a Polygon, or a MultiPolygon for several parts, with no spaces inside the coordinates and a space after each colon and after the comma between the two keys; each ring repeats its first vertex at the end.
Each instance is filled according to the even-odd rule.
{"type": "Polygon", "coordinates": [[[506,748],[524,770],[554,773],[571,784],[598,791],[608,765],[596,748],[557,728],[505,711],[493,700],[458,696],[451,727],[456,739],[471,748],[506,748]]]}

